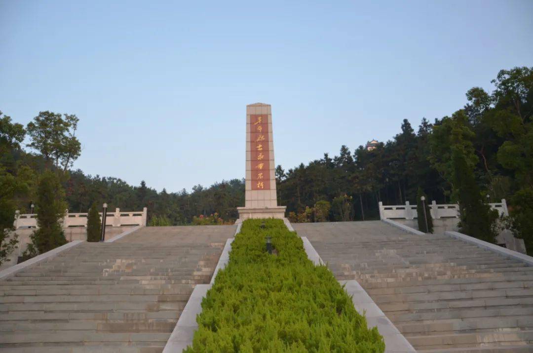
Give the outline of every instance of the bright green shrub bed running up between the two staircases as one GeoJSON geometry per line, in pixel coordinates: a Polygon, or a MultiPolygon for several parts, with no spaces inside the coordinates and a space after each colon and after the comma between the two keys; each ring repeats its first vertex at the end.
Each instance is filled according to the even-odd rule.
{"type": "Polygon", "coordinates": [[[187,352],[385,350],[377,328],[368,330],[332,272],[314,266],[281,220],[243,223],[197,321],[187,352]]]}

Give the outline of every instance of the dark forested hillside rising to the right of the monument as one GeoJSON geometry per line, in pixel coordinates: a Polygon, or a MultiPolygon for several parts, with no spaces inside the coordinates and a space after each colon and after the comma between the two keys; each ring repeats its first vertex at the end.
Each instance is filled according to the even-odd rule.
{"type": "Polygon", "coordinates": [[[351,220],[378,218],[379,201],[415,204],[418,187],[430,200],[455,203],[451,153],[457,145],[483,196],[491,202],[506,198],[515,208],[533,207],[532,68],[501,70],[491,82],[493,92],[473,87],[463,109],[451,116],[423,118],[417,127],[404,119],[399,133],[372,151],[359,146],[352,154],[342,146],[333,158],[324,154],[288,171],[278,166],[281,204],[302,212],[327,200],[329,219],[351,220]]]}

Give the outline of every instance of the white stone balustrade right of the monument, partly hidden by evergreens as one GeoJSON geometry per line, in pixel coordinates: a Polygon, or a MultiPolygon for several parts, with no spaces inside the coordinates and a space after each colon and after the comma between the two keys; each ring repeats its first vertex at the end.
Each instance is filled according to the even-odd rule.
{"type": "MultiPolygon", "coordinates": [[[[507,210],[507,203],[505,199],[499,203],[489,203],[492,210],[498,210],[500,215],[509,215],[507,210]]],[[[435,200],[429,205],[431,218],[459,218],[459,205],[458,204],[437,204],[435,200]]],[[[405,205],[392,205],[384,206],[379,202],[379,218],[380,219],[416,219],[416,205],[410,205],[409,201],[405,205]]]]}

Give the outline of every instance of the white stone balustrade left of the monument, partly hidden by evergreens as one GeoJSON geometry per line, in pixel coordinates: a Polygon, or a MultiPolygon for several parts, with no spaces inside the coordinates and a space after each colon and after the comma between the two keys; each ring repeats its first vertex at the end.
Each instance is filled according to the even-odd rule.
{"type": "MultiPolygon", "coordinates": [[[[115,208],[115,212],[107,212],[106,227],[120,227],[120,226],[146,226],[147,208],[144,207],[142,211],[120,212],[120,208],[115,208]]],[[[63,228],[87,227],[88,213],[69,213],[65,212],[63,218],[63,228]]],[[[15,212],[15,219],[13,226],[15,229],[20,228],[37,228],[37,214],[20,214],[20,211],[15,212]]],[[[100,212],[100,222],[102,221],[102,213],[100,212]]]]}

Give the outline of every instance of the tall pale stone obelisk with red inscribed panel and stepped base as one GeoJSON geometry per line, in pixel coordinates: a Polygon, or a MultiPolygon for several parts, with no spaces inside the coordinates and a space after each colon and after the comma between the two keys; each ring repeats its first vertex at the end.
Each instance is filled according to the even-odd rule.
{"type": "Polygon", "coordinates": [[[239,219],[284,218],[278,206],[274,174],[272,111],[269,104],[246,106],[246,204],[237,207],[239,219]]]}

